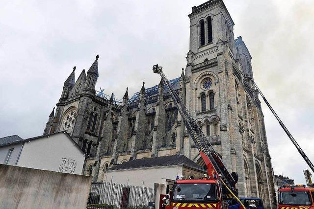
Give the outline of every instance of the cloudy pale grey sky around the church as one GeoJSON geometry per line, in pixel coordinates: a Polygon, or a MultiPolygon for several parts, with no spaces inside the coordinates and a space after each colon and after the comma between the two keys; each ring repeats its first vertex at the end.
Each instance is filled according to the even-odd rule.
{"type": "MultiPolygon", "coordinates": [[[[0,1],[0,137],[41,135],[63,82],[99,58],[97,89],[121,98],[179,77],[191,7],[205,0],[0,1]]],[[[225,0],[253,57],[256,83],[314,162],[314,1],[225,0]]],[[[274,172],[303,183],[308,168],[262,104],[274,172]]]]}

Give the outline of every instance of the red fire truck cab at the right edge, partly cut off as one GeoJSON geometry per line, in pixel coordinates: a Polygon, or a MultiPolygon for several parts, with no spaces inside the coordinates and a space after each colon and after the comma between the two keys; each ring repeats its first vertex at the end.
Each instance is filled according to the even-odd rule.
{"type": "Polygon", "coordinates": [[[278,209],[314,209],[313,185],[284,185],[279,189],[278,209]]]}

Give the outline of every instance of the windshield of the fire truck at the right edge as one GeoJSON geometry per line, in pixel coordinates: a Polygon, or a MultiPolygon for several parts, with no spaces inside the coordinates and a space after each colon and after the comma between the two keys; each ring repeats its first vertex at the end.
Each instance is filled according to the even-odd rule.
{"type": "Polygon", "coordinates": [[[279,204],[283,205],[311,205],[308,191],[281,191],[279,193],[279,204]]]}

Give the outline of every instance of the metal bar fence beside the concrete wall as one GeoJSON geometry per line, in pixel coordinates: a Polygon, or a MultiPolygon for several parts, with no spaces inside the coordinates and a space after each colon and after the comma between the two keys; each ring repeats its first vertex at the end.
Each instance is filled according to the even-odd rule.
{"type": "Polygon", "coordinates": [[[115,208],[148,207],[154,201],[154,188],[108,182],[92,183],[88,204],[107,204],[115,208]]]}

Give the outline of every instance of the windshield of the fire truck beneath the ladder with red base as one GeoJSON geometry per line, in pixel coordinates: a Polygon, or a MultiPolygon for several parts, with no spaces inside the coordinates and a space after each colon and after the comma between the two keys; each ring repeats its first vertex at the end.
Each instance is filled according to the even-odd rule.
{"type": "Polygon", "coordinates": [[[173,199],[185,201],[213,201],[216,200],[215,184],[178,184],[174,189],[173,199]]]}

